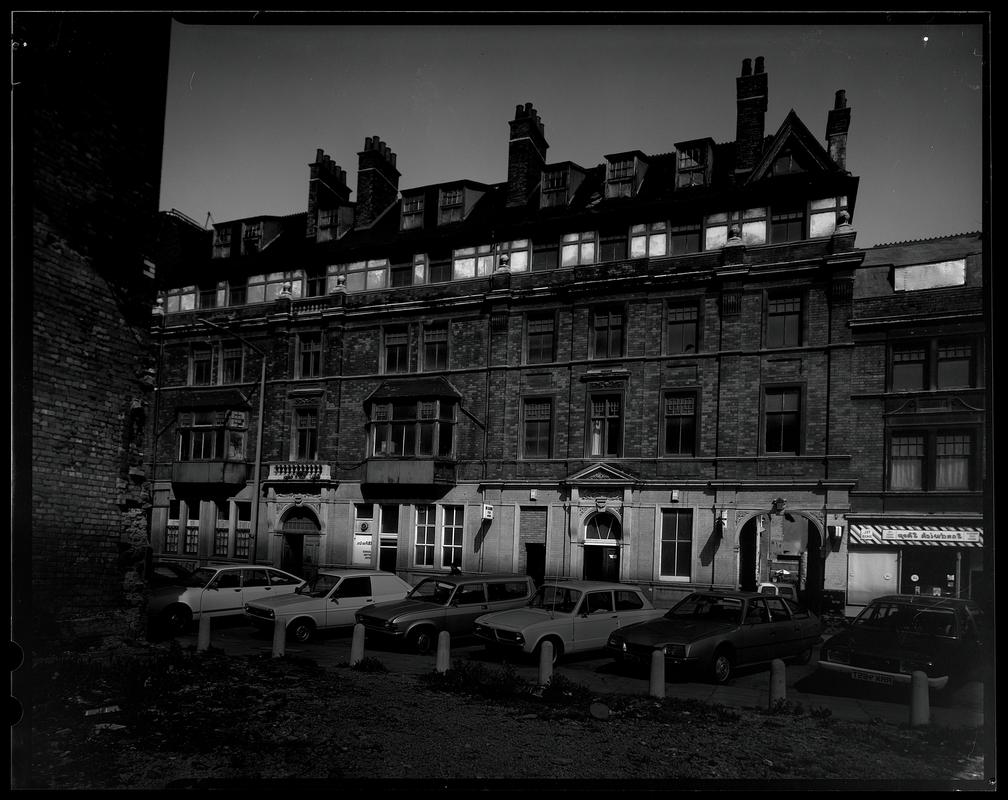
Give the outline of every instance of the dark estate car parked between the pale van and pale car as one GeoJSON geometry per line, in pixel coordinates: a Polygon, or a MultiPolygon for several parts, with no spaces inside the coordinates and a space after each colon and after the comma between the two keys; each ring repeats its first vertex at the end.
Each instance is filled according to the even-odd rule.
{"type": "Polygon", "coordinates": [[[401,601],[379,603],[357,613],[369,635],[409,643],[429,653],[437,636],[471,636],[477,617],[528,603],[535,584],[528,575],[440,575],[426,577],[401,601]]]}

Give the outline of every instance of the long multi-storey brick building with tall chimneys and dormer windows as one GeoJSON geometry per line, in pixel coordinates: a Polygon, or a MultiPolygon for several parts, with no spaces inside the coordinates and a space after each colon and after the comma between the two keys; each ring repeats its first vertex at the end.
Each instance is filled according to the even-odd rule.
{"type": "Polygon", "coordinates": [[[151,328],[155,550],[843,607],[850,109],[766,135],[766,88],[745,59],[734,142],[591,167],[518,106],[500,183],[400,189],[369,136],[356,201],[319,150],[307,214],[216,225],[151,328]]]}

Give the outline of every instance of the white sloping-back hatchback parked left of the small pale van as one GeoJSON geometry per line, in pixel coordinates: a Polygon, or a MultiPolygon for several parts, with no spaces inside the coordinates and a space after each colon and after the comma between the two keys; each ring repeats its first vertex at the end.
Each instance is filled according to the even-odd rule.
{"type": "Polygon", "coordinates": [[[272,566],[219,564],[202,566],[178,586],[154,589],[147,616],[172,633],[180,633],[203,615],[244,614],[245,604],[291,594],[304,580],[272,566]]]}

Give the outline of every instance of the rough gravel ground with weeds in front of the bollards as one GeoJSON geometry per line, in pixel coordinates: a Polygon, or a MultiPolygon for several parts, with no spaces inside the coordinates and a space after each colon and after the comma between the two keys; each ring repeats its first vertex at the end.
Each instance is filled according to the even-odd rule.
{"type": "MultiPolygon", "coordinates": [[[[153,663],[149,655],[120,657],[110,669],[78,658],[36,669],[31,788],[262,788],[313,780],[349,787],[375,779],[392,790],[423,782],[510,787],[515,780],[719,788],[782,779],[940,788],[983,776],[981,730],[859,724],[823,709],[768,713],[591,696],[562,681],[541,696],[523,691],[502,701],[463,691],[465,676],[455,668],[417,679],[385,673],[371,660],[360,666],[375,671],[289,657],[229,658],[213,649],[155,652],[153,663]],[[119,710],[86,715],[109,706],[119,710]]],[[[483,679],[484,691],[500,695],[513,677],[490,670],[483,679]]]]}

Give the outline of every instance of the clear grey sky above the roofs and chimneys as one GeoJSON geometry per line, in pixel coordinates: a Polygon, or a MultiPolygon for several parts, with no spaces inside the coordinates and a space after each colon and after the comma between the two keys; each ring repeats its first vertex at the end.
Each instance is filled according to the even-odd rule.
{"type": "Polygon", "coordinates": [[[846,90],[847,168],[861,178],[859,246],[981,230],[984,40],[975,17],[857,25],[811,24],[815,15],[786,25],[590,18],[174,22],[160,208],[200,225],[303,212],[318,148],[347,171],[355,199],[357,154],[374,135],[396,154],[400,189],[503,181],[508,121],[525,103],[545,126],[549,163],[591,167],[608,153],[732,141],[735,79],[743,58],[762,55],[768,134],[793,109],[824,142],[835,93],[846,90]]]}

